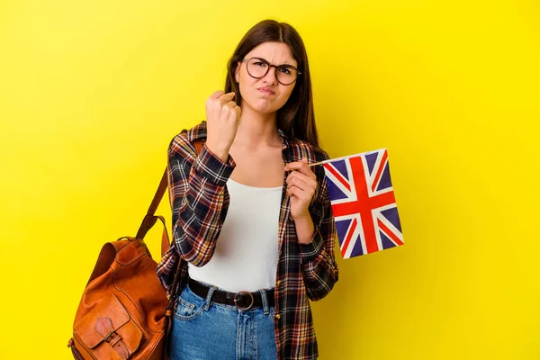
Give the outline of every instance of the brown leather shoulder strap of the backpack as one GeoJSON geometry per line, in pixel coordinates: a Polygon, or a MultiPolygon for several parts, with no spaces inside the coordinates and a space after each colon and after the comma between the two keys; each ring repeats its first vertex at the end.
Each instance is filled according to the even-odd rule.
{"type": "MultiPolygon", "coordinates": [[[[197,155],[201,153],[202,145],[203,145],[202,139],[196,139],[193,141],[193,146],[195,147],[195,151],[197,152],[197,155]]],[[[161,237],[161,257],[163,257],[166,250],[169,249],[171,242],[166,232],[165,219],[163,218],[163,216],[156,216],[155,213],[157,211],[157,206],[159,206],[159,202],[161,202],[161,199],[163,199],[163,195],[166,192],[167,184],[168,184],[168,166],[165,168],[165,172],[161,176],[161,181],[159,182],[159,186],[157,186],[157,191],[156,191],[156,194],[154,195],[154,199],[152,199],[152,202],[150,202],[150,206],[148,207],[147,214],[145,215],[144,219],[140,223],[139,230],[137,231],[137,236],[135,237],[139,239],[144,238],[148,230],[152,229],[152,227],[156,224],[157,220],[160,220],[163,223],[163,236],[161,237]]]]}

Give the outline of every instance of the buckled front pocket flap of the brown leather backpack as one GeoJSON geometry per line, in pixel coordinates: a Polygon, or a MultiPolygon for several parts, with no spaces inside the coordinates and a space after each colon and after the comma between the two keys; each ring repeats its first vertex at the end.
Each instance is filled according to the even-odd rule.
{"type": "Polygon", "coordinates": [[[97,359],[129,359],[142,339],[139,327],[113,294],[76,323],[74,335],[97,359]]]}

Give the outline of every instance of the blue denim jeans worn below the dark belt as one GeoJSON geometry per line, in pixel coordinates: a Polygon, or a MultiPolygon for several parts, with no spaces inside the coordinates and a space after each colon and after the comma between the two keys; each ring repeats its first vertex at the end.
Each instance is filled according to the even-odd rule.
{"type": "MultiPolygon", "coordinates": [[[[261,291],[263,292],[263,291],[261,291]]],[[[239,310],[210,302],[189,285],[178,299],[170,338],[171,360],[275,360],[274,307],[239,310]]]]}

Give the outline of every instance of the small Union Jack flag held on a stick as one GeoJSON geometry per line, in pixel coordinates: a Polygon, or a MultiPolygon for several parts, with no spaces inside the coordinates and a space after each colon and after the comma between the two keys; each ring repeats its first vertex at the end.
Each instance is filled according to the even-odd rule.
{"type": "Polygon", "coordinates": [[[385,148],[323,166],[343,258],[403,245],[385,148]]]}

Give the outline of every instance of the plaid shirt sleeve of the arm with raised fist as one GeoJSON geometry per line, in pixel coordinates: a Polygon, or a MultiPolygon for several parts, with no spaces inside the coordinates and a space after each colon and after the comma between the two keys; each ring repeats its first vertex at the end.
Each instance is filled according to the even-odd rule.
{"type": "Polygon", "coordinates": [[[193,266],[204,266],[213,256],[227,215],[226,184],[236,164],[230,156],[222,162],[206,144],[197,155],[183,134],[171,141],[167,158],[175,247],[193,266]]]}

